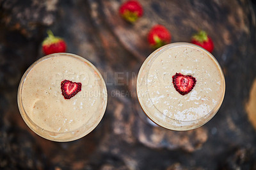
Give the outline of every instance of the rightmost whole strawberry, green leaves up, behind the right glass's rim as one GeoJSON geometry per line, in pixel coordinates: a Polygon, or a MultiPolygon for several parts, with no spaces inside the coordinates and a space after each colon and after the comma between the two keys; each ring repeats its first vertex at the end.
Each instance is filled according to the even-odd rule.
{"type": "Polygon", "coordinates": [[[209,52],[212,52],[214,49],[214,43],[205,31],[199,31],[196,35],[192,36],[191,43],[199,45],[209,52]]]}

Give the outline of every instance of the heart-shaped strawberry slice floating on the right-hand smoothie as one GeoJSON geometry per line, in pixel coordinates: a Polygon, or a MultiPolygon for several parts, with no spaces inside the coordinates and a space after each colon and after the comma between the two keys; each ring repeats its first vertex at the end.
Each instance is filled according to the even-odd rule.
{"type": "Polygon", "coordinates": [[[176,73],[172,77],[173,86],[180,93],[180,95],[188,94],[195,86],[196,79],[191,75],[183,75],[176,73]]]}

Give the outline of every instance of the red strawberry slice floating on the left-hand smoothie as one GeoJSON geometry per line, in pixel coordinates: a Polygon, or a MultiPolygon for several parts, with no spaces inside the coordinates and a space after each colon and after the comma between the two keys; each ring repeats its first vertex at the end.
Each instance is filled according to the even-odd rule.
{"type": "Polygon", "coordinates": [[[65,99],[74,97],[79,91],[81,91],[81,82],[72,82],[64,80],[61,82],[61,91],[65,99]]]}

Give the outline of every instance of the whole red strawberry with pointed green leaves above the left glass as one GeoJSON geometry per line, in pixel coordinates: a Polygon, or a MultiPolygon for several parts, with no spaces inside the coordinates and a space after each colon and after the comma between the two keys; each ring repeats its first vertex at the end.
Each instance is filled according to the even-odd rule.
{"type": "Polygon", "coordinates": [[[57,52],[66,52],[67,45],[62,38],[54,36],[52,31],[47,31],[47,34],[48,36],[44,39],[42,44],[42,50],[45,55],[57,52]]]}

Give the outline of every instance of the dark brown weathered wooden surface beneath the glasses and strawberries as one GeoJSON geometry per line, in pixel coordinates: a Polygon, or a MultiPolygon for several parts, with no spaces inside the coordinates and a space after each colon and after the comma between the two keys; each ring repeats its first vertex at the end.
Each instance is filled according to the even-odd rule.
{"type": "Polygon", "coordinates": [[[118,15],[117,0],[0,0],[0,169],[256,169],[256,133],[245,109],[256,76],[253,3],[140,2],[145,13],[129,24],[118,15]],[[189,42],[199,29],[212,36],[227,90],[203,127],[154,127],[138,105],[136,76],[153,51],[147,33],[154,24],[166,26],[172,42],[189,42]],[[99,126],[69,143],[33,133],[17,108],[20,77],[43,56],[47,29],[67,41],[67,52],[97,66],[108,88],[99,126]]]}

